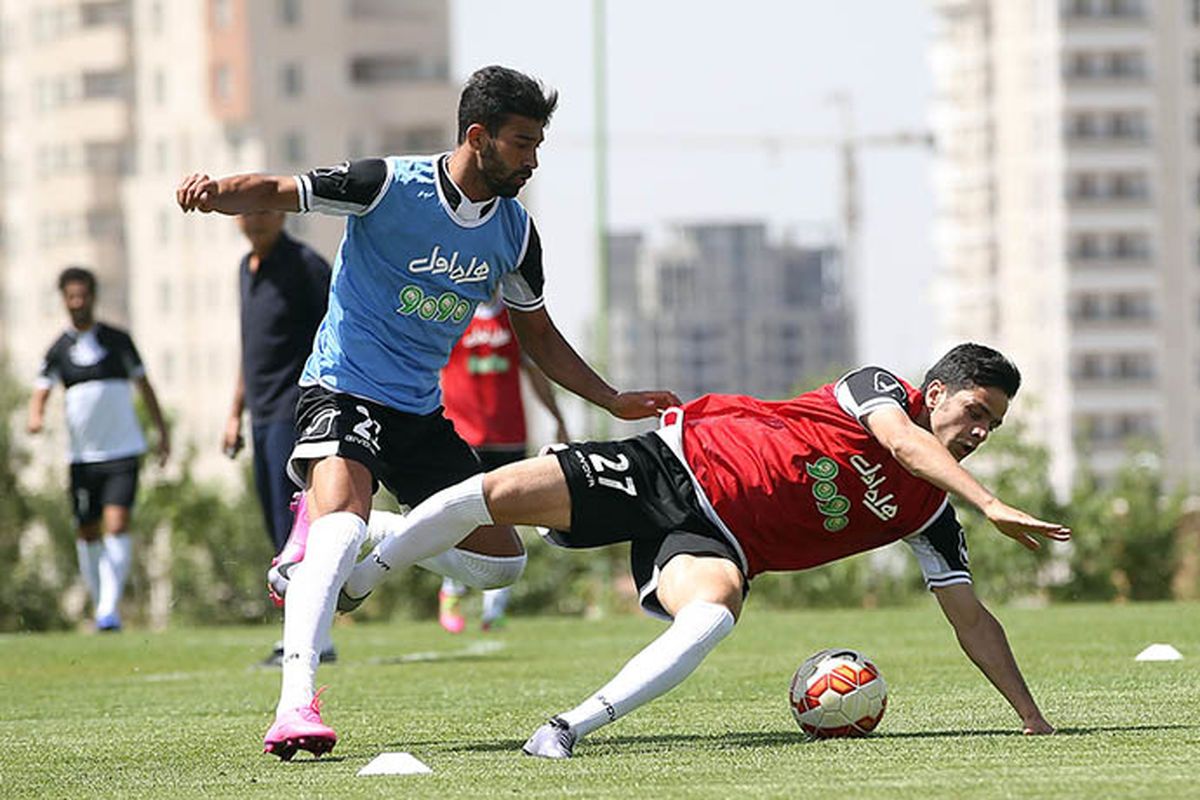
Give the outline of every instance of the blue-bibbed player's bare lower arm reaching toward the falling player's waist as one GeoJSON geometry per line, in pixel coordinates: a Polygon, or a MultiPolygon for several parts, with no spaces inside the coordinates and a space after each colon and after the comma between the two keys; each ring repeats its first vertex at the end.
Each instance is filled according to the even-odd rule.
{"type": "Polygon", "coordinates": [[[610,386],[563,338],[545,308],[530,312],[510,309],[509,317],[521,347],[551,380],[613,416],[640,420],[679,404],[673,392],[619,392],[610,386]]]}

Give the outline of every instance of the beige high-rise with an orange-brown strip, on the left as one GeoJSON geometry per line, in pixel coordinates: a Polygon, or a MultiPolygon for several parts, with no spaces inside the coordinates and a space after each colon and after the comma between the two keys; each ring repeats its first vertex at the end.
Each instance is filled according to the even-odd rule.
{"type": "MultiPolygon", "coordinates": [[[[192,444],[202,473],[228,474],[248,246],[232,217],[182,215],[175,187],[192,172],[452,146],[445,0],[5,0],[0,36],[0,341],[17,375],[65,324],[58,271],[90,266],[98,314],[132,329],[176,452],[192,444]]],[[[332,261],[341,219],[288,227],[332,261]]]]}

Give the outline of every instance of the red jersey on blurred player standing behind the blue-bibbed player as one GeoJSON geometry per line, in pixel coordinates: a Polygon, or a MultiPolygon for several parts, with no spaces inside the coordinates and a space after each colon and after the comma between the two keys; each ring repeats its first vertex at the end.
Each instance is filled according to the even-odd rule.
{"type": "Polygon", "coordinates": [[[521,347],[509,312],[480,305],[442,372],[442,403],[472,447],[523,447],[521,347]]]}

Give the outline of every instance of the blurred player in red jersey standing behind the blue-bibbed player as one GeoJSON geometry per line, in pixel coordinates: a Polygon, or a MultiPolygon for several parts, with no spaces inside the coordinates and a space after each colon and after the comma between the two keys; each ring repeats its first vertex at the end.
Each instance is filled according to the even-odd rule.
{"type": "MultiPolygon", "coordinates": [[[[546,375],[524,359],[509,312],[498,296],[475,308],[470,325],[450,351],[442,371],[442,404],[455,431],[479,456],[485,471],[526,457],[524,403],[521,372],[538,399],[554,419],[556,441],[566,441],[566,423],[546,375]]],[[[484,590],[482,628],[504,625],[510,587],[484,590]]],[[[438,622],[450,633],[461,633],[467,622],[460,599],[467,587],[446,576],[438,593],[438,622]]]]}

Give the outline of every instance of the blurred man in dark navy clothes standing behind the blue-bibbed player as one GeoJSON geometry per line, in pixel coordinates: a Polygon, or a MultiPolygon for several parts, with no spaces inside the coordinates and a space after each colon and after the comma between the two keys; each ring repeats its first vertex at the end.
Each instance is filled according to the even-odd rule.
{"type": "MultiPolygon", "coordinates": [[[[238,228],[250,241],[250,252],[238,270],[241,360],[221,443],[226,455],[238,456],[245,444],[242,413],[248,409],[254,487],[274,553],[283,549],[295,516],[292,495],[298,487],[288,477],[288,457],[296,440],[300,373],[329,305],[330,278],[329,261],[289,236],[283,230],[284,219],[282,211],[238,216],[238,228]]],[[[280,642],[262,666],[277,667],[282,657],[280,642]]],[[[336,658],[326,637],[320,661],[336,658]]]]}

